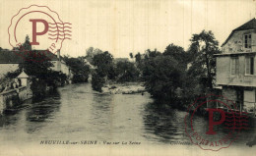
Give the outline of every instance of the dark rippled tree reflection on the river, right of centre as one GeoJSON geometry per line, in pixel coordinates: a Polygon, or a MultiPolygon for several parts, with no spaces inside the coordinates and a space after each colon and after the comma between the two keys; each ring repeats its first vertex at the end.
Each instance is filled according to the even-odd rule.
{"type": "Polygon", "coordinates": [[[184,136],[185,112],[171,110],[164,105],[149,103],[144,110],[145,132],[160,142],[186,140],[184,136]]]}

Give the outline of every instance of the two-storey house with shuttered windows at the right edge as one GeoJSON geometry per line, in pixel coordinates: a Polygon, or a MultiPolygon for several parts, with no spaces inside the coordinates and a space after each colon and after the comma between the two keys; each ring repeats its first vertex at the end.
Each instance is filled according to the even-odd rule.
{"type": "Polygon", "coordinates": [[[255,115],[256,19],[233,29],[217,54],[217,85],[238,109],[255,115]]]}

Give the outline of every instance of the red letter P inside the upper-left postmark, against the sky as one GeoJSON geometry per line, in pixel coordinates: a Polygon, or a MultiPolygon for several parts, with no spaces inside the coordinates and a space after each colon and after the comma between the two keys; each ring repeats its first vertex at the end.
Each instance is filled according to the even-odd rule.
{"type": "Polygon", "coordinates": [[[48,23],[45,20],[41,20],[41,19],[32,19],[30,20],[30,22],[32,22],[32,45],[39,45],[39,42],[36,41],[36,36],[37,35],[43,35],[48,31],[48,23]],[[37,32],[36,31],[36,23],[42,23],[44,25],[44,29],[41,32],[37,32]]]}

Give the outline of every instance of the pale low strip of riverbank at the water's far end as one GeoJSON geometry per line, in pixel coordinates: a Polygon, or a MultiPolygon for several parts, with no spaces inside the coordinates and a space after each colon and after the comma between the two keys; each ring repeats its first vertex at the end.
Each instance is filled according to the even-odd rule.
{"type": "Polygon", "coordinates": [[[143,82],[109,83],[102,87],[102,93],[108,94],[144,94],[146,92],[143,82]]]}

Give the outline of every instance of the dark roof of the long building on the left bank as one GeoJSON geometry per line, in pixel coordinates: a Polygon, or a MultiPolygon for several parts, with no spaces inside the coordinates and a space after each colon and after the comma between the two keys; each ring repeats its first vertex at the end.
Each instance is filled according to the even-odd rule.
{"type": "MultiPolygon", "coordinates": [[[[45,55],[50,61],[57,61],[57,55],[45,50],[32,50],[33,53],[45,55]]],[[[0,50],[0,64],[21,64],[29,53],[19,50],[0,50]]],[[[36,55],[36,54],[35,54],[36,55]]],[[[62,57],[61,57],[62,59],[62,57]]]]}

